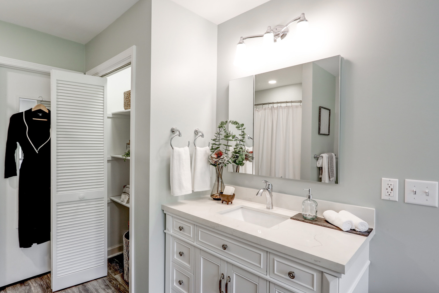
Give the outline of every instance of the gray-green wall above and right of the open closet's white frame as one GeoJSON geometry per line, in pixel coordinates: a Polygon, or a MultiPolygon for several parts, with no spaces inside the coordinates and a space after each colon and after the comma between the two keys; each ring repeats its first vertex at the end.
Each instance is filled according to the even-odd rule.
{"type": "Polygon", "coordinates": [[[147,292],[149,264],[149,161],[151,103],[151,0],[140,0],[85,45],[86,71],[136,45],[136,217],[131,230],[133,279],[131,292],[147,292]]]}

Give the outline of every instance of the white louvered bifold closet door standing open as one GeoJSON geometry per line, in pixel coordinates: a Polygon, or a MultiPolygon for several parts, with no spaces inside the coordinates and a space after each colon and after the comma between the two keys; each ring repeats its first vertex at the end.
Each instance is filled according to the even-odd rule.
{"type": "Polygon", "coordinates": [[[107,275],[107,79],[53,70],[52,290],[107,275]]]}

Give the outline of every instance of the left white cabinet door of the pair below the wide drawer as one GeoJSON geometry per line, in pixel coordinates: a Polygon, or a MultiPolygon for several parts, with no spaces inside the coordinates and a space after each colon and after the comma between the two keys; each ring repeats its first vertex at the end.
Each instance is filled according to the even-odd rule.
{"type": "Polygon", "coordinates": [[[198,248],[195,257],[195,293],[224,291],[226,261],[198,248]]]}

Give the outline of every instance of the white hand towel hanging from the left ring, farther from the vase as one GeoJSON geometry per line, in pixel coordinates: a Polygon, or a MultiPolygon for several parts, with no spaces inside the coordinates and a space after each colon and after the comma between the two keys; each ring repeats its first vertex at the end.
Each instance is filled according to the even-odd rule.
{"type": "Polygon", "coordinates": [[[171,195],[192,193],[189,148],[174,147],[171,155],[171,195]]]}

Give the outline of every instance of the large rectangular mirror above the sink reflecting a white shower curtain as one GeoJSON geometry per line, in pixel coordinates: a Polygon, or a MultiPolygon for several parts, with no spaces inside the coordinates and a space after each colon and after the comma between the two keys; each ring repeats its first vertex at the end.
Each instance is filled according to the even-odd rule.
{"type": "Polygon", "coordinates": [[[229,82],[229,120],[253,161],[230,172],[338,183],[341,56],[229,82]]]}

